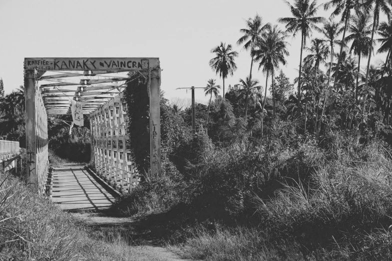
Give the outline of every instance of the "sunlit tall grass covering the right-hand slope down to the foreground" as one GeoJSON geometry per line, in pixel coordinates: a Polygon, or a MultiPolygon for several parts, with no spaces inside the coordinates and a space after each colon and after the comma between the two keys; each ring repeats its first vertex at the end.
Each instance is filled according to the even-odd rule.
{"type": "Polygon", "coordinates": [[[258,224],[196,226],[173,249],[211,261],[392,260],[390,152],[379,140],[334,139],[324,157],[307,149],[318,160],[307,183],[291,174],[271,197],[253,193],[258,224]]]}

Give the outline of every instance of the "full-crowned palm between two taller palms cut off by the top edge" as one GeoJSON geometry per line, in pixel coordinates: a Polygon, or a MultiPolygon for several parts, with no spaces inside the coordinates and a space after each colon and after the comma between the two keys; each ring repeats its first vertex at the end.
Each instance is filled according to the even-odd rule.
{"type": "Polygon", "coordinates": [[[368,36],[371,33],[371,20],[370,16],[363,11],[358,11],[354,16],[351,17],[351,24],[348,27],[348,31],[352,32],[348,35],[344,41],[348,42],[352,40],[350,51],[353,51],[355,55],[358,55],[358,72],[356,75],[356,86],[355,86],[355,102],[358,99],[358,86],[359,86],[359,74],[360,74],[360,58],[361,56],[369,55],[369,45],[371,38],[368,36]]]}

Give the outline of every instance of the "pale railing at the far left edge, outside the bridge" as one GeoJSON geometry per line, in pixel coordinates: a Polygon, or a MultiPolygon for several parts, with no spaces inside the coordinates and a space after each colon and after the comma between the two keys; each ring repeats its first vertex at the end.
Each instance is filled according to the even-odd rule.
{"type": "Polygon", "coordinates": [[[21,158],[20,150],[19,141],[0,140],[0,169],[10,170],[17,167],[17,160],[21,158]]]}

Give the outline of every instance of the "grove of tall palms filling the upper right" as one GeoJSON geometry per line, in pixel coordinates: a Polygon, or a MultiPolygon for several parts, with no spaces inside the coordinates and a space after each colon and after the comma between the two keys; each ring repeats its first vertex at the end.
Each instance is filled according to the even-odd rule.
{"type": "Polygon", "coordinates": [[[300,119],[302,133],[319,133],[322,127],[353,129],[358,134],[389,132],[391,1],[331,0],[321,5],[317,0],[285,2],[292,16],[278,19],[283,28],[256,14],[240,30],[243,36],[237,45],[249,51],[250,72],[236,88],[229,86],[227,90],[226,86],[229,96],[225,96],[225,78],[237,69],[238,52],[223,42],[211,50],[216,56],[209,63],[223,80],[223,96],[244,96],[244,119],[249,119],[248,105],[258,104],[261,133],[263,120],[277,116],[300,119]],[[317,16],[321,8],[331,10],[330,17],[317,16]],[[387,20],[381,21],[381,15],[387,20]],[[319,37],[312,37],[314,34],[319,37]],[[289,82],[276,82],[285,77],[281,70],[289,55],[288,37],[301,42],[301,48],[294,50],[300,52],[295,93],[289,82]],[[376,43],[380,43],[377,49],[376,43]],[[370,63],[375,53],[384,54],[381,64],[370,63]],[[266,77],[263,91],[252,75],[254,64],[266,77]],[[272,106],[265,110],[268,84],[272,106]]]}

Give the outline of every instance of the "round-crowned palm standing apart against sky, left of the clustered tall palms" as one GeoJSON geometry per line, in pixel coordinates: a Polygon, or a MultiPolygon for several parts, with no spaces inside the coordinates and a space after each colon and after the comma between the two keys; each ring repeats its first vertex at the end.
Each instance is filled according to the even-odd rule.
{"type": "Polygon", "coordinates": [[[225,78],[227,75],[233,75],[237,69],[234,58],[238,56],[238,52],[232,50],[231,44],[221,42],[220,45],[216,46],[211,50],[212,53],[216,54],[216,57],[210,59],[210,66],[215,73],[219,73],[219,77],[223,78],[223,98],[225,98],[225,78]]]}

